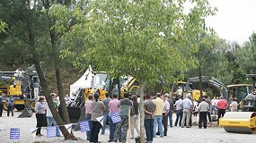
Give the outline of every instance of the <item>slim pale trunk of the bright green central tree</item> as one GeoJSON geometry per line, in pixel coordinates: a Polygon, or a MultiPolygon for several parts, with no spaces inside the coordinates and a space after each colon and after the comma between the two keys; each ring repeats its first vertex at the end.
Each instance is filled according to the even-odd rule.
{"type": "Polygon", "coordinates": [[[139,121],[140,121],[140,142],[145,141],[145,126],[144,126],[144,86],[140,86],[139,90],[140,101],[139,101],[139,121]]]}

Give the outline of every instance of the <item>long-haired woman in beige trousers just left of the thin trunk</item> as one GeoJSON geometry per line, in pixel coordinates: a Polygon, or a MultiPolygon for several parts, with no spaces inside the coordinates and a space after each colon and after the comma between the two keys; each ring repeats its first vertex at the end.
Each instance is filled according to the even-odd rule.
{"type": "Polygon", "coordinates": [[[134,139],[134,129],[137,131],[137,135],[139,135],[138,130],[138,103],[137,103],[137,96],[133,95],[131,97],[132,100],[132,107],[130,112],[130,130],[131,130],[131,139],[134,139]]]}

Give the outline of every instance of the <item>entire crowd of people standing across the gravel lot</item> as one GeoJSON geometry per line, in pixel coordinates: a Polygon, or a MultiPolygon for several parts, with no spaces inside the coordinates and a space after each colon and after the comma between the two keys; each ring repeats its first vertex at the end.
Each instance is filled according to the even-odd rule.
{"type": "MultiPolygon", "coordinates": [[[[199,129],[207,129],[207,117],[211,122],[211,114],[217,114],[218,119],[225,114],[226,109],[230,108],[232,112],[237,111],[237,102],[235,98],[233,102],[228,105],[227,101],[223,97],[213,97],[209,99],[207,96],[201,99],[198,103],[189,94],[184,97],[178,93],[176,97],[178,100],[173,102],[172,96],[169,94],[161,95],[157,93],[154,95],[146,95],[144,101],[144,122],[146,131],[146,142],[153,142],[153,139],[159,136],[163,138],[167,136],[168,126],[180,126],[181,128],[190,128],[192,126],[191,115],[197,116],[199,114],[199,129]],[[176,119],[172,124],[172,114],[176,113],[176,119]]],[[[51,93],[53,103],[55,107],[59,105],[59,101],[56,93],[51,93]]],[[[86,139],[90,142],[99,142],[99,133],[105,134],[106,125],[110,123],[110,137],[108,142],[127,142],[128,129],[131,131],[130,139],[138,139],[140,129],[138,128],[139,121],[139,98],[137,95],[131,96],[129,93],[124,94],[123,99],[119,99],[117,94],[106,94],[106,98],[102,101],[99,99],[99,95],[96,93],[90,95],[85,101],[85,119],[89,122],[90,130],[86,131],[86,139]],[[130,109],[130,113],[128,112],[130,109]],[[119,113],[121,121],[113,122],[111,114],[119,113]],[[104,122],[101,124],[96,118],[104,116],[104,122]],[[130,116],[130,125],[128,125],[128,116],[130,116]]],[[[75,96],[73,96],[75,97],[75,96]]],[[[3,97],[0,97],[3,100],[3,97]]],[[[66,95],[66,101],[70,101],[71,98],[66,95]]],[[[9,98],[8,105],[13,105],[12,98],[9,98]]],[[[1,107],[1,106],[0,106],[1,107]]],[[[9,113],[13,110],[8,107],[9,113]]],[[[40,97],[35,105],[36,119],[37,119],[37,136],[42,136],[40,128],[47,125],[56,126],[57,137],[60,136],[57,122],[49,110],[49,105],[45,102],[45,97],[40,97]],[[46,122],[45,122],[46,121],[46,122]]],[[[0,113],[2,115],[2,112],[0,113]]],[[[12,112],[13,115],[13,112],[12,112]]]]}

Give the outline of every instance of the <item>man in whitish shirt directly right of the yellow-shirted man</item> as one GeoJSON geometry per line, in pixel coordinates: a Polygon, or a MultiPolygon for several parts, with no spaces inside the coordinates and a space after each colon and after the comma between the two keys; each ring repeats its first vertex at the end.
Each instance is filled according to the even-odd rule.
{"type": "Polygon", "coordinates": [[[170,104],[169,102],[166,100],[165,95],[162,96],[163,99],[163,136],[167,136],[167,130],[168,130],[168,114],[169,114],[169,110],[170,110],[170,104]]]}

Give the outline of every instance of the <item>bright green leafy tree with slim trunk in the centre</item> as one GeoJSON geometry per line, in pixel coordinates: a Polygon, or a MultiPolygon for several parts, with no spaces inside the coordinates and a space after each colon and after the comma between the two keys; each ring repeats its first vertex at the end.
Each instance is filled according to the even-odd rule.
{"type": "MultiPolygon", "coordinates": [[[[160,76],[171,83],[177,78],[174,73],[187,71],[188,64],[194,65],[195,59],[190,55],[199,46],[190,39],[204,32],[204,18],[214,13],[206,0],[191,2],[195,5],[189,14],[184,13],[183,0],[93,1],[82,6],[86,12],[80,5],[73,9],[77,22],[63,37],[68,46],[63,57],[75,57],[78,67],[92,64],[95,71],[137,78],[141,88],[141,142],[145,142],[144,88],[153,87],[160,76]],[[82,47],[74,47],[70,40],[74,37],[83,38],[79,42],[82,47]]],[[[59,20],[63,17],[54,10],[53,14],[59,20]]]]}

